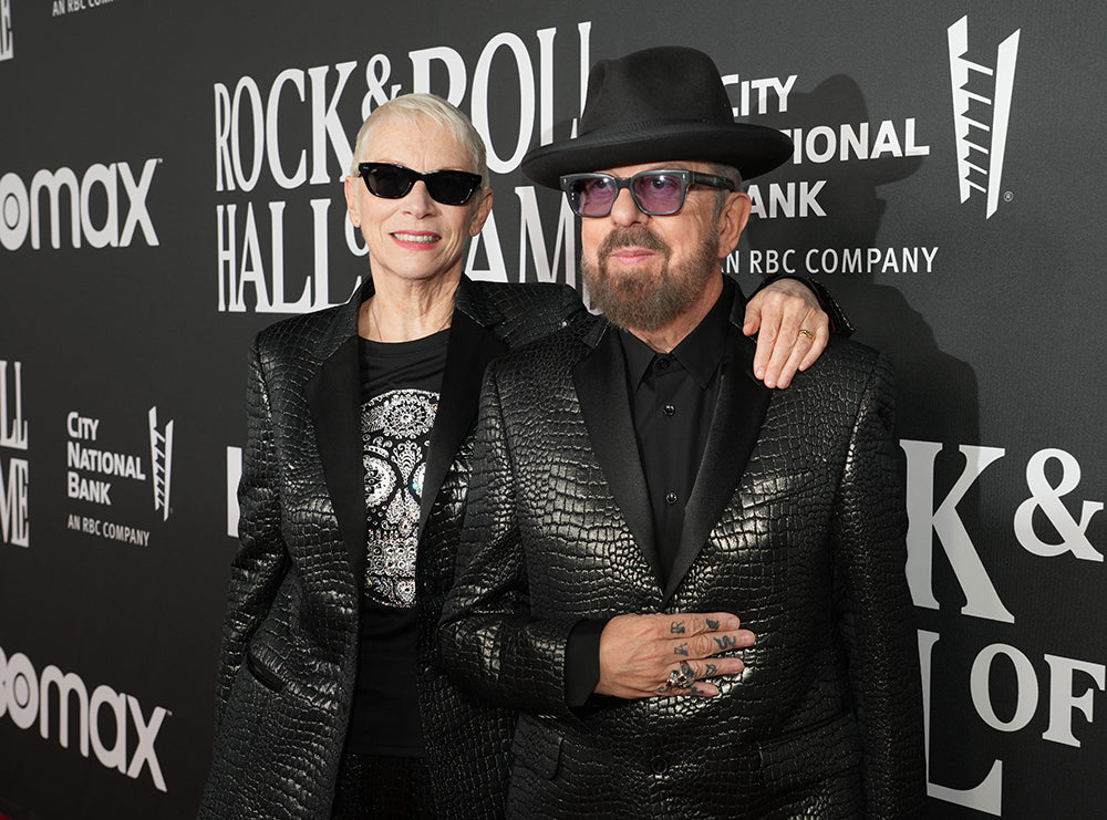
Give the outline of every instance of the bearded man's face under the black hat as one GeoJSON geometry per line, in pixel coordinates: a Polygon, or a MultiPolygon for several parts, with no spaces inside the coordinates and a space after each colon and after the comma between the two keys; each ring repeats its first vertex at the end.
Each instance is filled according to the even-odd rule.
{"type": "MultiPolygon", "coordinates": [[[[711,173],[705,163],[692,162],[624,165],[602,173],[631,177],[658,168],[711,173]]],[[[744,226],[748,198],[734,196],[744,199],[744,226]]],[[[614,324],[646,332],[692,308],[742,230],[733,231],[731,208],[716,216],[717,203],[715,188],[692,186],[680,211],[648,216],[623,189],[608,216],[581,218],[581,272],[592,303],[614,324]]]]}

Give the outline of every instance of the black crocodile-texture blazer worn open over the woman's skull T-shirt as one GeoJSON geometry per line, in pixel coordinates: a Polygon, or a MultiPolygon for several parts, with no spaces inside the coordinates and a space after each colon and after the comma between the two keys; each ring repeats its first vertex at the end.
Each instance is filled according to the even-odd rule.
{"type": "MultiPolygon", "coordinates": [[[[279,322],[251,351],[241,544],[200,818],[330,817],[358,671],[366,520],[356,324],[371,294],[368,281],[344,305],[279,322]]],[[[515,724],[448,683],[432,640],[453,577],[480,380],[494,357],[582,312],[566,286],[463,279],[457,290],[421,510],[418,696],[436,801],[482,797],[447,802],[439,817],[501,812],[515,724]]]]}

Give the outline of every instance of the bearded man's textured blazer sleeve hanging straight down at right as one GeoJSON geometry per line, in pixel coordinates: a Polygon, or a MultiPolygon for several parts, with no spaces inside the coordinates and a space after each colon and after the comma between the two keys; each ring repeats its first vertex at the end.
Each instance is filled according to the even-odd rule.
{"type": "Polygon", "coordinates": [[[862,740],[867,818],[921,816],[922,695],[907,585],[903,453],[881,355],[861,397],[834,520],[836,616],[862,740]]]}

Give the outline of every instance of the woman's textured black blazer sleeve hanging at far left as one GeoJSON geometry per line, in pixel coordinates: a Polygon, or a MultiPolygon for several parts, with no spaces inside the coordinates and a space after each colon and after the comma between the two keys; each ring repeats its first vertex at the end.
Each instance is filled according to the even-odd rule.
{"type": "Polygon", "coordinates": [[[239,547],[231,564],[227,615],[219,653],[216,730],[224,718],[246,646],[269,612],[284,577],[288,553],[280,531],[280,490],[272,409],[259,344],[250,351],[247,444],[238,485],[239,547]]]}

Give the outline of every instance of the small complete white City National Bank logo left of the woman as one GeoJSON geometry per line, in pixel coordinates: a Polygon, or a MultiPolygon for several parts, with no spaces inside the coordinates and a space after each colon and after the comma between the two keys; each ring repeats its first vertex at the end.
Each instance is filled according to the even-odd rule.
{"type": "MultiPolygon", "coordinates": [[[[122,507],[124,505],[117,504],[120,495],[127,490],[121,484],[149,481],[154,511],[159,513],[163,521],[168,520],[172,510],[169,490],[173,486],[173,421],[158,424],[157,407],[151,407],[146,418],[146,432],[149,436],[148,467],[142,455],[104,446],[102,419],[83,416],[76,411],[65,417],[65,429],[70,437],[65,449],[69,498],[102,507],[122,507]]],[[[137,547],[149,544],[149,530],[139,527],[72,513],[66,526],[71,530],[137,547]]]]}

